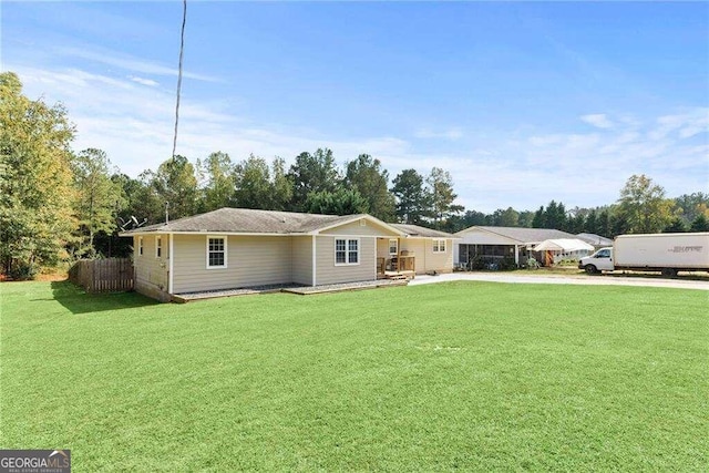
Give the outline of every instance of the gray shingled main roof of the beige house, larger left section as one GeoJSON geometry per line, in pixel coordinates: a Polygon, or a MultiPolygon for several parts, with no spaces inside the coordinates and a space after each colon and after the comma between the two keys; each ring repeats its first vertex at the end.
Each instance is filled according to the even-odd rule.
{"type": "Polygon", "coordinates": [[[124,232],[122,235],[154,232],[219,232],[235,234],[300,234],[354,220],[358,215],[298,214],[295,212],[255,210],[224,207],[206,214],[179,218],[167,224],[150,225],[124,232]]]}

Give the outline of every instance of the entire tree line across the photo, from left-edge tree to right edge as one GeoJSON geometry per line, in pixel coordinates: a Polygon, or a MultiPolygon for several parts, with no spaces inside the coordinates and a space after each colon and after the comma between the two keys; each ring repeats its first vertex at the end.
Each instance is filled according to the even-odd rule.
{"type": "Polygon", "coordinates": [[[127,256],[121,229],[220,207],[348,215],[458,232],[472,225],[558,228],[615,236],[708,229],[709,195],[668,199],[647,176],[633,176],[617,203],[566,209],[552,200],[536,212],[512,207],[483,214],[455,203],[448,171],[403,169],[390,178],[369,154],[339,166],[328,148],[304,152],[290,166],[276,157],[233,161],[223,152],[164,161],[137,178],[105,152],[74,152],[66,110],[30,100],[12,72],[0,74],[0,264],[13,278],[33,277],[62,260],[127,256]]]}

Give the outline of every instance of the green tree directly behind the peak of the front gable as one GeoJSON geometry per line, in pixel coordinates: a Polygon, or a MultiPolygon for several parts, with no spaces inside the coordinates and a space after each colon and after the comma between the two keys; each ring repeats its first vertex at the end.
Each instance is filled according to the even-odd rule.
{"type": "Polygon", "coordinates": [[[395,206],[388,184],[389,173],[381,167],[379,160],[369,154],[360,154],[357,160],[347,163],[345,185],[359,191],[369,204],[369,213],[384,222],[394,218],[395,206]]]}

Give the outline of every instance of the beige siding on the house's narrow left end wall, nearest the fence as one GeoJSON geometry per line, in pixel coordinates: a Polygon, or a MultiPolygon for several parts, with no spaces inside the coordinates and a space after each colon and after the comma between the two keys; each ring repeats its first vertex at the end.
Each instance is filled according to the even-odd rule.
{"type": "Polygon", "coordinates": [[[167,292],[167,246],[168,236],[160,235],[163,243],[163,255],[155,257],[156,235],[143,236],[143,255],[138,254],[138,237],[133,237],[133,266],[135,268],[135,290],[141,294],[167,292]]]}

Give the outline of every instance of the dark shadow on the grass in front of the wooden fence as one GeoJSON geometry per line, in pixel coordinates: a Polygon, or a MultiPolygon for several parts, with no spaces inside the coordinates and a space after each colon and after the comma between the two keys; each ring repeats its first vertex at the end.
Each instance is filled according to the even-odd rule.
{"type": "Polygon", "coordinates": [[[160,304],[137,292],[88,294],[68,280],[54,281],[51,286],[54,300],[72,313],[133,309],[160,304]]]}

